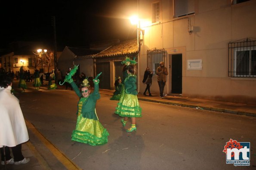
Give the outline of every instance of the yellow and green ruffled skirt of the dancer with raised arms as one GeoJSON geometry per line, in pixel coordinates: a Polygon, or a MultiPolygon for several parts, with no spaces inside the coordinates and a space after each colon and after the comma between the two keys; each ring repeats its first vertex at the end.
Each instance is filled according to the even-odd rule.
{"type": "Polygon", "coordinates": [[[108,135],[107,129],[99,120],[84,118],[80,114],[77,117],[76,129],[72,133],[71,140],[96,146],[107,143],[108,135]]]}

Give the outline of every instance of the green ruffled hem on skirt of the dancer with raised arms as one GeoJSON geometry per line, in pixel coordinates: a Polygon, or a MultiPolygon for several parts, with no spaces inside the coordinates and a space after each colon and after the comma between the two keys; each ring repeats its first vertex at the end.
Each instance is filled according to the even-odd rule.
{"type": "Polygon", "coordinates": [[[108,135],[109,133],[107,129],[103,130],[102,137],[96,137],[95,135],[90,134],[88,132],[74,130],[71,136],[71,140],[80,143],[87,143],[91,146],[96,146],[108,143],[108,135]]]}

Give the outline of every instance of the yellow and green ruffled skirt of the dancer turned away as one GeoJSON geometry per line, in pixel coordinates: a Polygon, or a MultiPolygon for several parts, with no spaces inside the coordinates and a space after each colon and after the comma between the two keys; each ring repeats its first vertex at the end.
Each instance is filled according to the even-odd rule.
{"type": "Polygon", "coordinates": [[[123,93],[117,103],[115,113],[121,117],[141,117],[142,108],[139,106],[137,95],[123,93]]]}

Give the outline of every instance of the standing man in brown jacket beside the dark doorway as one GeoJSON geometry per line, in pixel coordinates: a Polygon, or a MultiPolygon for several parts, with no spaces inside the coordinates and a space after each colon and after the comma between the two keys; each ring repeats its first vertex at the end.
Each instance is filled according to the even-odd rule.
{"type": "Polygon", "coordinates": [[[164,67],[163,61],[161,61],[160,66],[157,67],[157,82],[160,90],[160,97],[163,98],[163,90],[166,83],[166,76],[168,75],[168,70],[164,67]]]}

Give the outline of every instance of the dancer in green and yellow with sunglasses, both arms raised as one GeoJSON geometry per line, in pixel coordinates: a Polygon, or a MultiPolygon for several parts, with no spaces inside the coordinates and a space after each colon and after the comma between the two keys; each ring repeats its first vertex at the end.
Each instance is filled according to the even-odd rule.
{"type": "MultiPolygon", "coordinates": [[[[76,69],[76,68],[74,68],[76,69]]],[[[82,88],[79,90],[71,75],[66,75],[65,81],[71,84],[80,98],[77,104],[77,125],[73,131],[71,140],[87,143],[92,146],[102,145],[108,142],[108,131],[99,122],[96,114],[96,101],[100,98],[99,79],[93,79],[94,91],[90,94],[89,81],[83,80],[82,88]]]]}

